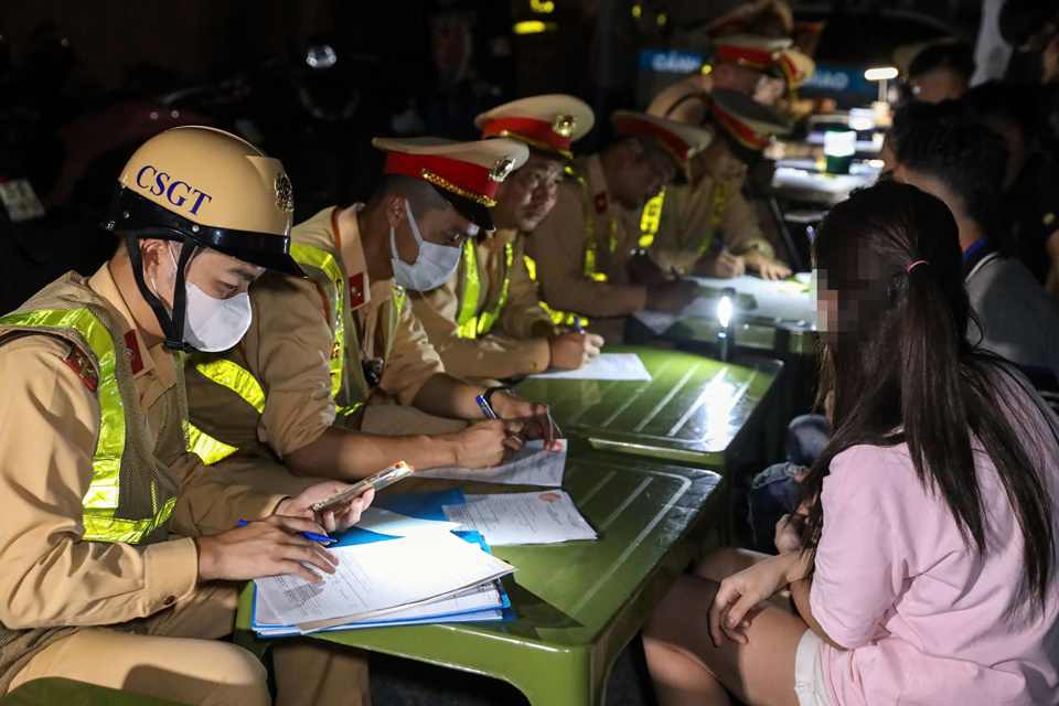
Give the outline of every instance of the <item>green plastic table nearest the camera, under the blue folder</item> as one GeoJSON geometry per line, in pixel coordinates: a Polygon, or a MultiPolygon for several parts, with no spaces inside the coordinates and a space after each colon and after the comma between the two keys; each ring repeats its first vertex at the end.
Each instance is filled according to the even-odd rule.
{"type": "MultiPolygon", "coordinates": [[[[446,484],[422,482],[421,490],[431,482],[446,484]]],[[[495,547],[496,556],[518,568],[504,579],[514,621],[315,637],[493,676],[521,689],[534,706],[601,705],[618,654],[695,558],[714,522],[726,515],[723,482],[710,471],[573,451],[563,488],[599,539],[495,547]]],[[[461,488],[468,493],[531,490],[485,483],[461,488]]],[[[267,642],[249,632],[249,619],[247,590],[236,642],[261,652],[267,642]]]]}

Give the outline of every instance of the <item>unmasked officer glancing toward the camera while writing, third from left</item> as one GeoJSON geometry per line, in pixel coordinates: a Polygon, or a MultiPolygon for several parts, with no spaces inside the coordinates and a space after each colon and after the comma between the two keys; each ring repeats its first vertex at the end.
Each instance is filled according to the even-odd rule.
{"type": "Polygon", "coordinates": [[[530,158],[496,188],[496,232],[463,243],[460,266],[445,285],[411,293],[450,374],[501,379],[574,370],[599,354],[600,336],[571,328],[559,314],[553,320],[542,307],[525,261],[526,238],[555,205],[570,145],[593,121],[587,104],[564,95],[522,98],[475,119],[483,138],[524,142],[530,158]]]}

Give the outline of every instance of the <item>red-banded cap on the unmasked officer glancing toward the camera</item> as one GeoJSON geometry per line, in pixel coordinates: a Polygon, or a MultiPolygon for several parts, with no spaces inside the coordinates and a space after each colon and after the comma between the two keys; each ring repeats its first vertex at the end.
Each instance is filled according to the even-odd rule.
{"type": "Polygon", "coordinates": [[[585,137],[596,122],[587,103],[574,96],[548,94],[520,98],[474,118],[482,138],[506,137],[525,142],[549,157],[573,159],[570,145],[585,137]]]}

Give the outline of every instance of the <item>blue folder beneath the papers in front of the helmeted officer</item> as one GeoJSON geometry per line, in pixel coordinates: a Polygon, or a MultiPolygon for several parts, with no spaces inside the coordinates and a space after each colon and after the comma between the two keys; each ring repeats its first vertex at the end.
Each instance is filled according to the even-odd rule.
{"type": "MultiPolygon", "coordinates": [[[[462,491],[454,489],[435,493],[415,493],[409,495],[391,495],[381,498],[377,505],[410,517],[420,520],[445,521],[442,505],[456,505],[464,502],[462,491]]],[[[485,539],[478,532],[454,531],[454,535],[471,544],[477,544],[484,552],[490,552],[485,539]]],[[[396,539],[388,535],[377,534],[367,530],[351,527],[332,546],[353,546],[375,542],[396,539]]],[[[275,622],[267,607],[258,603],[257,589],[254,589],[254,610],[250,628],[260,638],[289,638],[314,632],[341,632],[345,630],[365,630],[370,628],[394,628],[400,625],[422,625],[442,622],[499,622],[514,620],[511,600],[500,580],[477,586],[457,596],[439,599],[435,602],[421,603],[411,608],[400,609],[392,613],[384,613],[373,618],[321,628],[302,632],[296,625],[285,625],[275,622]],[[261,613],[261,619],[258,616],[261,613]]]]}

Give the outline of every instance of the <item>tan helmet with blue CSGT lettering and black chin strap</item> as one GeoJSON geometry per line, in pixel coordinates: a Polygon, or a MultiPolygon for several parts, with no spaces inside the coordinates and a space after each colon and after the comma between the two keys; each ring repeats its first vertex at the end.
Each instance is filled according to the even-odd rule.
{"type": "Polygon", "coordinates": [[[185,126],[152,137],[132,154],[118,176],[104,227],[125,238],[137,287],[165,345],[189,351],[184,271],[195,248],[303,277],[290,257],[293,211],[279,160],[223,130],[185,126]],[[139,240],[146,238],[182,244],[172,313],[143,281],[139,240]]]}

